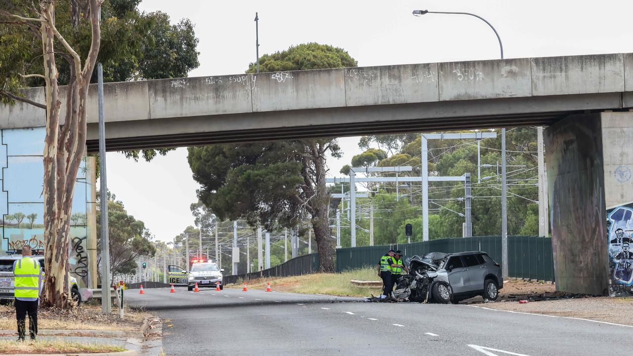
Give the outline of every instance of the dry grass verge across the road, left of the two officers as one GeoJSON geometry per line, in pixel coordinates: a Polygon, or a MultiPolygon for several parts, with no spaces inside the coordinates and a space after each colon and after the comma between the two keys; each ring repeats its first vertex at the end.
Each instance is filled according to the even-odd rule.
{"type": "MultiPolygon", "coordinates": [[[[348,270],[341,273],[315,273],[294,277],[271,277],[251,279],[247,281],[249,289],[266,289],[266,283],[270,282],[273,291],[304,294],[327,294],[337,296],[369,296],[379,295],[379,288],[363,288],[353,286],[349,281],[359,279],[361,281],[378,281],[375,268],[363,268],[348,270]]],[[[242,284],[227,284],[227,288],[242,288],[242,284]]]]}

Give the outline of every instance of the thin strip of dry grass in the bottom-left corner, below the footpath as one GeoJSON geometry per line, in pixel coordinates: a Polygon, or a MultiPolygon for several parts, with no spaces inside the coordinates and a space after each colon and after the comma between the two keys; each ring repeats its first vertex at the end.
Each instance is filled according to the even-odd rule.
{"type": "Polygon", "coordinates": [[[101,345],[97,343],[78,343],[63,340],[37,340],[18,343],[13,340],[0,340],[0,354],[11,355],[15,353],[97,353],[97,352],[121,352],[125,348],[113,345],[101,345]]]}

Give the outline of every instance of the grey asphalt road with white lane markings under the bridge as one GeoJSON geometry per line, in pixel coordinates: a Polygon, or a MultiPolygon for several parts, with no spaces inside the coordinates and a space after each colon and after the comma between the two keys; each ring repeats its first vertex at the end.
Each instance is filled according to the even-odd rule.
{"type": "Polygon", "coordinates": [[[628,355],[633,327],[479,307],[177,287],[125,295],[168,355],[628,355]],[[505,353],[504,353],[505,352],[505,353]]]}

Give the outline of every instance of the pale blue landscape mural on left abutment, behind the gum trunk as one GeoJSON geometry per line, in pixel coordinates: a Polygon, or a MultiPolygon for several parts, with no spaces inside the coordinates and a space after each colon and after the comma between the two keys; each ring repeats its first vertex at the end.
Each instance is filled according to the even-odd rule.
{"type": "MultiPolygon", "coordinates": [[[[29,245],[44,249],[44,127],[0,130],[0,255],[29,245]]],[[[92,158],[91,158],[92,159],[92,158]]],[[[92,165],[89,165],[92,167],[92,165]]],[[[73,198],[70,229],[70,266],[80,287],[88,284],[88,240],[91,224],[96,224],[89,198],[95,189],[82,162],[73,198]]]]}

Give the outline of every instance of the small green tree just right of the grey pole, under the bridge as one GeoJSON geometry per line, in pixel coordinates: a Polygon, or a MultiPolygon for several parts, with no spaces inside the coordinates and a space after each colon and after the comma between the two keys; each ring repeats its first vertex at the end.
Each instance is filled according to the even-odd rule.
{"type": "MultiPolygon", "coordinates": [[[[98,194],[97,194],[98,197],[98,194]]],[[[97,207],[99,202],[97,201],[97,207]]],[[[97,215],[101,212],[97,208],[97,215]]],[[[127,213],[122,201],[112,196],[108,200],[108,235],[110,236],[110,270],[112,281],[116,275],[132,274],[137,269],[135,260],[153,256],[156,246],[141,220],[127,213]]],[[[101,222],[97,219],[97,265],[101,261],[101,222]]]]}

